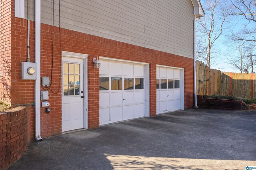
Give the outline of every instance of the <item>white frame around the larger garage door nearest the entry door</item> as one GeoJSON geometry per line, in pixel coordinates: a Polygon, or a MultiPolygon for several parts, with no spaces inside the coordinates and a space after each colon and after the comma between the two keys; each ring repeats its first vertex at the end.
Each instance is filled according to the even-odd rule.
{"type": "Polygon", "coordinates": [[[133,63],[133,64],[144,64],[145,65],[145,75],[144,75],[144,79],[145,79],[145,83],[146,85],[144,85],[145,90],[144,90],[144,94],[145,94],[145,117],[149,117],[149,63],[144,63],[144,62],[139,62],[139,61],[132,61],[132,60],[126,60],[126,59],[116,59],[116,58],[110,58],[110,57],[103,57],[103,56],[99,56],[100,59],[102,60],[106,60],[106,61],[118,61],[118,62],[122,62],[122,63],[133,63]]]}

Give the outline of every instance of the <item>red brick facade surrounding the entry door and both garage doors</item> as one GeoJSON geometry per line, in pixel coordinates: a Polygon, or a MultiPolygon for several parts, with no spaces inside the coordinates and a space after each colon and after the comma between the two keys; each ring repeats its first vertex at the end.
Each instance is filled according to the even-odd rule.
{"type": "MultiPolygon", "coordinates": [[[[16,31],[12,34],[16,40],[19,36],[26,33],[26,20],[14,18],[12,24],[16,31]],[[14,26],[15,25],[15,26],[14,26]]],[[[31,22],[31,45],[30,51],[34,51],[34,22],[31,22]]],[[[150,116],[156,115],[156,64],[169,65],[184,68],[184,108],[191,108],[193,105],[193,59],[156,51],[131,45],[128,43],[117,42],[106,38],[92,36],[72,30],[61,28],[61,49],[76,53],[89,54],[88,57],[88,127],[99,127],[99,69],[93,67],[92,59],[97,56],[126,59],[150,63],[150,116]]],[[[17,89],[12,93],[16,103],[31,103],[34,100],[34,82],[24,81],[20,78],[20,62],[26,61],[26,42],[25,40],[12,43],[15,48],[14,57],[17,67],[14,71],[15,85],[17,89]],[[22,89],[22,91],[20,90],[22,89]]],[[[57,92],[59,78],[61,76],[60,46],[58,28],[54,27],[54,69],[52,77],[52,91],[57,92]]],[[[34,61],[34,53],[31,53],[34,61]]],[[[41,24],[41,76],[50,77],[52,60],[52,26],[41,24]]],[[[60,87],[61,88],[61,87],[60,87]]],[[[43,90],[43,88],[41,88],[43,90]]],[[[46,114],[41,109],[41,136],[52,136],[61,133],[61,93],[57,95],[49,92],[49,103],[51,113],[46,114]]],[[[34,113],[31,113],[31,124],[34,125],[34,113]]],[[[34,136],[34,127],[31,126],[31,135],[34,136]]]]}

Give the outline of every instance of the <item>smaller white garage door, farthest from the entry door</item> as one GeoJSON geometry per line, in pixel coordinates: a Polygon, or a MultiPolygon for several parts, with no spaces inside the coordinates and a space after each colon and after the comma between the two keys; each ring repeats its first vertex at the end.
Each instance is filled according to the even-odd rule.
{"type": "Polygon", "coordinates": [[[156,113],[181,109],[181,69],[156,67],[156,113]]]}

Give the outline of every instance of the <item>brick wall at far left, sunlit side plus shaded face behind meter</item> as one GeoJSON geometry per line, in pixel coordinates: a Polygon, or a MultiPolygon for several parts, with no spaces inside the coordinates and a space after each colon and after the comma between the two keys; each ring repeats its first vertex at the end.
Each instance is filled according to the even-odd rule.
{"type": "MultiPolygon", "coordinates": [[[[30,22],[30,54],[34,61],[34,22],[30,22]]],[[[27,20],[14,17],[14,0],[0,0],[0,99],[16,104],[34,103],[34,81],[21,80],[21,62],[27,56],[27,20]]],[[[30,111],[34,138],[34,109],[30,111]]]]}

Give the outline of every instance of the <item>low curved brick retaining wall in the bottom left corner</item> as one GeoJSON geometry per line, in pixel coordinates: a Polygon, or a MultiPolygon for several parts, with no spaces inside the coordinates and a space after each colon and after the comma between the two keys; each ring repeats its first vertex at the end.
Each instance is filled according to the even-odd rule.
{"type": "Polygon", "coordinates": [[[0,113],[0,169],[22,157],[30,142],[30,109],[16,107],[0,113]]]}

